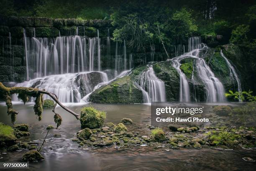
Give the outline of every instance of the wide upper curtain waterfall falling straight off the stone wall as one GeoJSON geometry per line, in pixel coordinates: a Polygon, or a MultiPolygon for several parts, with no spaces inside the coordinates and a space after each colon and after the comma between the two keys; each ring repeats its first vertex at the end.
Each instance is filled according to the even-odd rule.
{"type": "Polygon", "coordinates": [[[101,70],[99,35],[94,38],[85,36],[30,38],[26,37],[25,30],[23,34],[27,80],[52,74],[95,71],[95,64],[97,70],[101,70]]]}

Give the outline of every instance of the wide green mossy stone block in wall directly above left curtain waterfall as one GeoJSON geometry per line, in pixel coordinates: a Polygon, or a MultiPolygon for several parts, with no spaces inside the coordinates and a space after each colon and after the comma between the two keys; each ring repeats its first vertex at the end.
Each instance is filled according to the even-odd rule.
{"type": "Polygon", "coordinates": [[[36,28],[36,37],[58,37],[59,30],[54,27],[38,27],[36,28]]]}

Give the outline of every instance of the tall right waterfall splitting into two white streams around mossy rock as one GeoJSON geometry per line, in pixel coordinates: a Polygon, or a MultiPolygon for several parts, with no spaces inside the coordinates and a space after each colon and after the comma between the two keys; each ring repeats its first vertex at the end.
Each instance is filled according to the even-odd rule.
{"type": "MultiPolygon", "coordinates": [[[[197,69],[197,74],[200,80],[205,85],[206,91],[206,102],[223,102],[224,97],[224,87],[218,78],[215,77],[214,73],[211,71],[210,67],[206,64],[205,60],[199,57],[200,50],[202,48],[207,48],[204,43],[201,43],[200,37],[192,37],[188,40],[188,53],[184,53],[181,56],[172,59],[174,68],[178,71],[180,75],[180,87],[179,87],[179,100],[180,102],[189,102],[189,84],[185,74],[180,69],[180,61],[186,58],[194,58],[195,68],[197,69]]],[[[192,84],[195,84],[194,71],[192,84]]]]}

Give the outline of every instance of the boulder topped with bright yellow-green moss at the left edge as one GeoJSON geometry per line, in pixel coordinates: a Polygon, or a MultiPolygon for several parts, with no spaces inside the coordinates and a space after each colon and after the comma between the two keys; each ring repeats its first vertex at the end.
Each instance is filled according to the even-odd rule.
{"type": "Polygon", "coordinates": [[[0,123],[0,147],[14,145],[16,140],[13,128],[0,123]]]}

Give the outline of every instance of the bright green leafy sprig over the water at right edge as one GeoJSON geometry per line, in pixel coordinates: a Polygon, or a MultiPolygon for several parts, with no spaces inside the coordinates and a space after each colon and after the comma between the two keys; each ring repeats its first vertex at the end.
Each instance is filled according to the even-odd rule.
{"type": "Polygon", "coordinates": [[[233,97],[235,100],[241,99],[241,101],[249,101],[249,102],[256,102],[256,96],[253,96],[251,93],[253,91],[243,91],[243,92],[233,92],[232,90],[228,91],[229,93],[225,93],[225,97],[233,97]]]}

